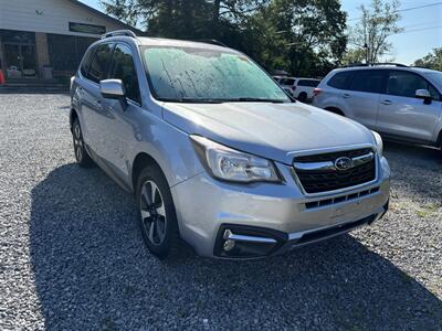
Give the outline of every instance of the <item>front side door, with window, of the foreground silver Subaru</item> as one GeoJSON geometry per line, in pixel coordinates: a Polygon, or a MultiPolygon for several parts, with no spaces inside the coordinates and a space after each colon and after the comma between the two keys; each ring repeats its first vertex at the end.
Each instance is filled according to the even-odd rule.
{"type": "Polygon", "coordinates": [[[134,55],[128,44],[118,43],[115,46],[108,77],[122,79],[126,106],[115,99],[103,100],[105,116],[102,120],[107,131],[104,158],[114,174],[127,183],[129,150],[136,143],[134,132],[139,131],[135,118],[144,111],[134,55]]]}

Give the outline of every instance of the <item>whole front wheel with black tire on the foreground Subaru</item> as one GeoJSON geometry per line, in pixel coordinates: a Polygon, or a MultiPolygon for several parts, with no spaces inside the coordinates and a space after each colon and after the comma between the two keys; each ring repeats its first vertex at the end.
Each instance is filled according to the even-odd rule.
{"type": "Polygon", "coordinates": [[[139,227],[149,252],[159,259],[177,256],[179,248],[177,214],[169,185],[159,167],[149,166],[140,172],[137,181],[136,199],[139,227]],[[146,195],[148,195],[149,188],[151,188],[150,192],[155,190],[151,183],[159,190],[162,207],[157,199],[150,205],[147,202],[146,195]],[[146,213],[149,215],[146,216],[146,213]],[[152,228],[151,234],[150,228],[152,228]],[[164,233],[161,233],[161,229],[164,229],[164,233]]]}

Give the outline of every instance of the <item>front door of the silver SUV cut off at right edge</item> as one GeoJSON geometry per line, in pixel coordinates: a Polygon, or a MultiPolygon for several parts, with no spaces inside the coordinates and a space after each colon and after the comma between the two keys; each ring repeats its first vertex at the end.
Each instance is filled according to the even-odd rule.
{"type": "Polygon", "coordinates": [[[428,142],[431,140],[441,111],[441,96],[421,75],[407,71],[390,71],[386,94],[379,99],[377,127],[398,138],[428,142]],[[428,89],[432,102],[415,97],[417,89],[428,89]]]}

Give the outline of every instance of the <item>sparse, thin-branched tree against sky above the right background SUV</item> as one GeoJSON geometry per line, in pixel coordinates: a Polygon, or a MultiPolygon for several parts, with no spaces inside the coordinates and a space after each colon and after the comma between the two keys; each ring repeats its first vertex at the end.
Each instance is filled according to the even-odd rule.
{"type": "Polygon", "coordinates": [[[370,7],[360,6],[360,19],[350,29],[351,50],[364,50],[366,63],[376,63],[392,50],[388,38],[403,31],[398,22],[399,0],[372,0],[370,7]]]}

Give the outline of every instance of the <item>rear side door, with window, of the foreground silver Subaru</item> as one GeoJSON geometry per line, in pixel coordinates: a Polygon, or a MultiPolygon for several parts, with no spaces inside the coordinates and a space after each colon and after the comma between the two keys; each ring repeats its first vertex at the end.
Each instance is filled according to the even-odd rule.
{"type": "Polygon", "coordinates": [[[85,142],[99,157],[104,153],[107,139],[102,120],[104,116],[103,97],[99,93],[99,81],[107,77],[108,64],[114,44],[99,44],[92,57],[88,72],[78,86],[82,98],[82,117],[84,122],[85,142]]]}

